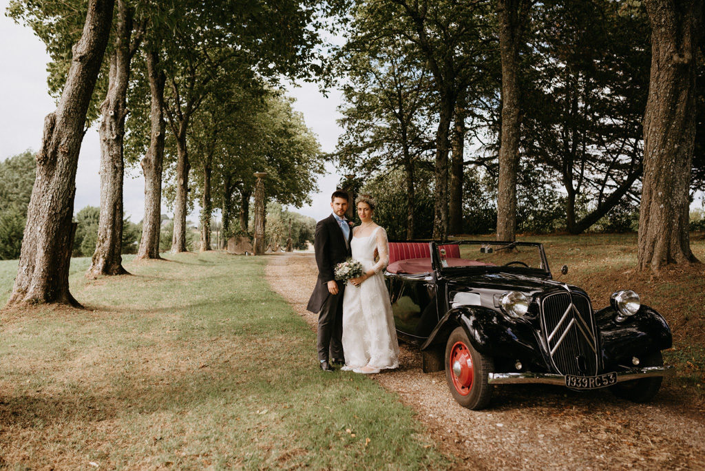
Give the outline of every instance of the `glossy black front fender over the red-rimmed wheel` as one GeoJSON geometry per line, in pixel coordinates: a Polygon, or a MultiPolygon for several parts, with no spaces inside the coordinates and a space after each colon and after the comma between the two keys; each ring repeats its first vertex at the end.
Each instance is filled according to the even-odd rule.
{"type": "Polygon", "coordinates": [[[465,329],[472,348],[485,355],[543,358],[532,326],[482,306],[462,306],[446,312],[421,350],[441,345],[445,348],[450,333],[458,326],[465,329]]]}

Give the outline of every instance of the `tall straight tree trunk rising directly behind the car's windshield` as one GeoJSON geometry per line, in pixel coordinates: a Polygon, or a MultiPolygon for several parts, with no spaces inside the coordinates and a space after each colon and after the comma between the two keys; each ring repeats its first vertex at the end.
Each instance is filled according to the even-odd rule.
{"type": "Polygon", "coordinates": [[[497,240],[517,236],[517,173],[519,172],[519,62],[521,0],[498,0],[499,49],[502,59],[502,129],[497,191],[497,240]]]}

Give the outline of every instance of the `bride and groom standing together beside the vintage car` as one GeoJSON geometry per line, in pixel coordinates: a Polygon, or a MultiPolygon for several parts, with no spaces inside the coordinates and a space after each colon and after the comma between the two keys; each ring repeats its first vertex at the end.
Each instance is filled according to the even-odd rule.
{"type": "Polygon", "coordinates": [[[318,313],[318,359],[321,369],[374,374],[399,366],[399,345],[382,271],[389,262],[384,228],[372,221],[375,202],[369,195],[355,201],[360,226],[345,219],[348,193],[333,192],[333,214],[318,221],[314,236],[318,279],[307,310],[318,313]],[[379,261],[375,262],[375,252],[379,261]],[[352,256],[362,275],[336,281],[336,264],[352,256]]]}

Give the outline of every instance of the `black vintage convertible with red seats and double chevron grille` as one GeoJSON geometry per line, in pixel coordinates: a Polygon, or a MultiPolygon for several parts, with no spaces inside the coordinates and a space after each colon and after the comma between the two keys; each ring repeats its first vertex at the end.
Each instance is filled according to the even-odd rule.
{"type": "Polygon", "coordinates": [[[553,280],[539,243],[391,242],[385,276],[399,337],[419,345],[424,372],[446,370],[466,408],[517,383],[646,402],[673,372],[661,314],[630,290],[594,311],[584,290],[553,280]]]}

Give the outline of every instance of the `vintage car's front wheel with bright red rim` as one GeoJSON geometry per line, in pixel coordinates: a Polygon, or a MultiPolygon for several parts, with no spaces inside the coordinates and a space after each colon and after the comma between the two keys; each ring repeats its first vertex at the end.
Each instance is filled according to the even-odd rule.
{"type": "Polygon", "coordinates": [[[446,381],[458,404],[471,410],[486,408],[492,398],[487,376],[494,371],[494,361],[472,348],[462,327],[448,337],[445,365],[446,381]]]}

